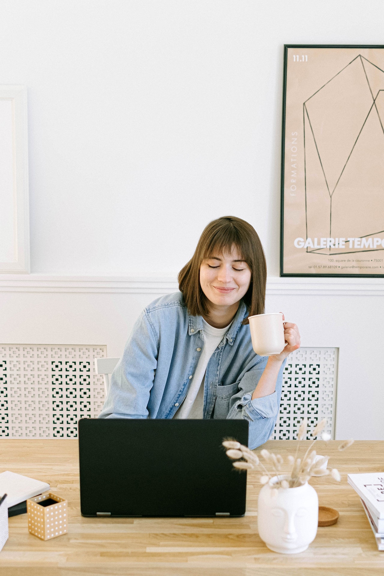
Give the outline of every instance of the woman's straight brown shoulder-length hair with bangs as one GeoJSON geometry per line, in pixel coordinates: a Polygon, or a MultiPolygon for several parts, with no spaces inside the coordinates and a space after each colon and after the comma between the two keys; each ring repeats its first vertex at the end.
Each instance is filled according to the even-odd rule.
{"type": "MultiPolygon", "coordinates": [[[[223,216],[204,228],[195,253],[177,277],[184,304],[192,316],[209,313],[207,297],[200,285],[201,263],[210,256],[230,254],[233,245],[251,272],[249,289],[242,298],[248,308],[248,315],[264,313],[267,263],[260,238],[253,226],[245,220],[235,216],[223,216]]],[[[243,320],[243,324],[248,324],[248,319],[243,320]]]]}

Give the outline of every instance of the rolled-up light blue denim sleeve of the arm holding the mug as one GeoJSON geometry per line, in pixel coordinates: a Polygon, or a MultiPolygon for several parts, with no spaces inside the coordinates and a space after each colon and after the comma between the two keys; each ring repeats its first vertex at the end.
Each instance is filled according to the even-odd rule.
{"type": "Polygon", "coordinates": [[[280,409],[286,360],[284,360],[277,375],[275,392],[252,400],[253,391],[264,372],[266,363],[267,358],[265,358],[265,362],[261,363],[261,366],[257,366],[257,369],[250,370],[243,376],[239,382],[239,392],[231,398],[230,411],[227,416],[227,418],[248,420],[248,446],[250,449],[257,448],[269,439],[275,428],[280,409]]]}

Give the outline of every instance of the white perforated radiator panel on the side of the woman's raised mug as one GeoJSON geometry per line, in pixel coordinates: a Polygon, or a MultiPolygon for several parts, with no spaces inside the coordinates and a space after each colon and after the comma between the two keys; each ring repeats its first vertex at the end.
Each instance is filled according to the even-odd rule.
{"type": "MultiPolygon", "coordinates": [[[[325,431],[334,438],[338,348],[299,348],[288,356],[283,373],[280,413],[272,437],[296,439],[301,420],[307,416],[309,431],[326,418],[325,431]]],[[[307,439],[311,436],[308,435],[307,439]]]]}

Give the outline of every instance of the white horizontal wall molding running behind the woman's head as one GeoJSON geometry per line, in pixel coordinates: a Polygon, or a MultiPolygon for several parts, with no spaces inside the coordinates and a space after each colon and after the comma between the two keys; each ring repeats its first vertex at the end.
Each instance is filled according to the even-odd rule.
{"type": "MultiPolygon", "coordinates": [[[[174,278],[138,276],[0,275],[0,292],[67,292],[168,294],[178,289],[174,278]]],[[[384,295],[384,278],[269,277],[267,295],[384,295]]]]}

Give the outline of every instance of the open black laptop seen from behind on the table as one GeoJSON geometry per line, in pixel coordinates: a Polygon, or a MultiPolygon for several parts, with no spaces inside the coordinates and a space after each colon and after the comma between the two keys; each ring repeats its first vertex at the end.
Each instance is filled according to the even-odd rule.
{"type": "Polygon", "coordinates": [[[79,420],[83,516],[243,516],[246,472],[222,441],[246,420],[79,420]]]}

